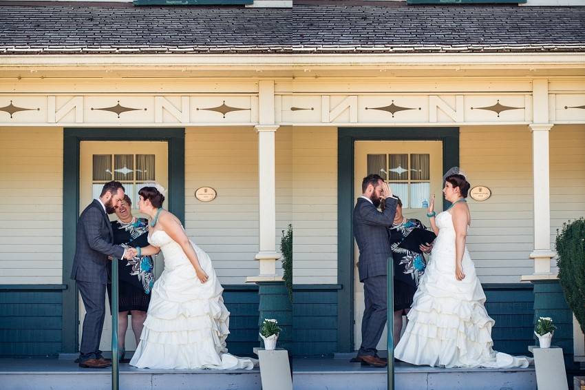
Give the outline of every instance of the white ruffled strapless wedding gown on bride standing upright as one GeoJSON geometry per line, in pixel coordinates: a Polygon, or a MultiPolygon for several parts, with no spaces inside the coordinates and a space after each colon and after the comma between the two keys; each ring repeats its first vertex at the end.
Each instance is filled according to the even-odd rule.
{"type": "Polygon", "coordinates": [[[431,367],[528,367],[529,358],[493,351],[495,321],[484,307],[485,294],[467,247],[462,260],[465,278],[459,281],[451,214],[441,212],[436,224],[439,233],[394,356],[431,367]]]}

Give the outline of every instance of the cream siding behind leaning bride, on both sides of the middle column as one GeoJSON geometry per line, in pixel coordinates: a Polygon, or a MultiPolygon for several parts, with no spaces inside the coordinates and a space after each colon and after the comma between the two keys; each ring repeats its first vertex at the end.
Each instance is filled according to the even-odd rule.
{"type": "MultiPolygon", "coordinates": [[[[277,236],[288,224],[286,148],[290,135],[276,134],[277,236]]],[[[290,152],[288,152],[290,153],[290,152]]],[[[290,174],[288,175],[290,176],[290,174]]],[[[290,179],[289,179],[290,181],[290,179]]],[[[224,284],[242,284],[257,276],[258,135],[253,127],[189,127],[185,132],[185,225],[204,249],[224,284]],[[198,201],[199,187],[213,187],[217,198],[198,201]]],[[[280,262],[277,262],[280,272],[280,262]]]]}

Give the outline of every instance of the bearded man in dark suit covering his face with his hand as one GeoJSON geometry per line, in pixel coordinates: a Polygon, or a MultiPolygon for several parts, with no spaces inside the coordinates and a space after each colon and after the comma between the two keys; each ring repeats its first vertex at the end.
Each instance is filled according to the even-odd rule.
{"type": "Polygon", "coordinates": [[[388,258],[392,256],[387,228],[394,222],[398,201],[383,178],[370,174],[361,183],[363,194],[358,198],[353,214],[354,236],[359,247],[359,281],[363,283],[365,309],[361,322],[361,347],[357,360],[374,367],[385,367],[386,360],[376,355],[386,325],[388,258]],[[385,199],[384,212],[378,210],[385,199]]]}

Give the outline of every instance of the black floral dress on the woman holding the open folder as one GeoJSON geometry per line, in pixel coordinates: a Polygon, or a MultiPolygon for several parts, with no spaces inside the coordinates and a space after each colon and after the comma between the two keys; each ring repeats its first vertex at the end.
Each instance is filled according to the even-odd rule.
{"type": "Polygon", "coordinates": [[[425,258],[419,249],[424,243],[405,240],[414,229],[426,229],[418,219],[392,224],[390,249],[394,260],[394,311],[409,309],[418,281],[425,273],[425,258]],[[406,244],[407,243],[407,244],[406,244]]]}

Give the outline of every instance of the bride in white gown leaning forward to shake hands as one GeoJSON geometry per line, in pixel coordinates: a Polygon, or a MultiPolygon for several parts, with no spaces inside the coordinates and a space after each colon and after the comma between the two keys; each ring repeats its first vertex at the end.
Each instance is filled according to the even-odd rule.
{"type": "Polygon", "coordinates": [[[140,343],[130,365],[151,369],[252,369],[255,360],[226,349],[229,312],[211,259],[185,234],[180,220],[162,209],[156,187],[140,189],[138,207],[151,218],[149,246],[138,256],[164,254],[154,283],[140,343]]]}

